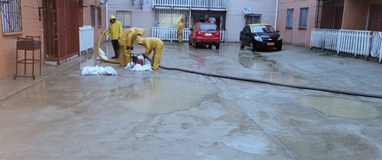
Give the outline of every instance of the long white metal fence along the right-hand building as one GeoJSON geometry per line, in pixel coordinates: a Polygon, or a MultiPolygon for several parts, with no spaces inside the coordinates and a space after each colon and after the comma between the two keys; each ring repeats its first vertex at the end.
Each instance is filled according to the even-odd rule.
{"type": "Polygon", "coordinates": [[[312,29],[311,47],[335,50],[337,53],[346,52],[371,55],[382,60],[382,32],[367,30],[345,29],[312,29]]]}

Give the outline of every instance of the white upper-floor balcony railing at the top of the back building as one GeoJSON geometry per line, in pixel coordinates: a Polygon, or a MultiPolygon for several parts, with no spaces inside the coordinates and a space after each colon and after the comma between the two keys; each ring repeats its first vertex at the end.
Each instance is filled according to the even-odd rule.
{"type": "Polygon", "coordinates": [[[153,7],[226,9],[227,0],[153,0],[153,7]]]}

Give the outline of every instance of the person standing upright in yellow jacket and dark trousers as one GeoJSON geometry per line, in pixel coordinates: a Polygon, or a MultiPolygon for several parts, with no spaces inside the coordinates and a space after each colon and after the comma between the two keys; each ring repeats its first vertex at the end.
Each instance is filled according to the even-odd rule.
{"type": "Polygon", "coordinates": [[[111,34],[112,38],[112,44],[114,49],[114,56],[112,58],[118,58],[119,54],[119,45],[118,45],[118,39],[122,35],[122,24],[119,20],[116,19],[114,15],[110,15],[110,23],[109,28],[106,30],[105,35],[111,34]]]}

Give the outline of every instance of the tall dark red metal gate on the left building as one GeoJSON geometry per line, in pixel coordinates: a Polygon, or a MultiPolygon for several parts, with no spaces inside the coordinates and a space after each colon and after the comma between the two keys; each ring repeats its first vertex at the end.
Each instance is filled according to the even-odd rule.
{"type": "Polygon", "coordinates": [[[59,65],[79,53],[78,1],[43,0],[43,7],[45,58],[59,65]]]}

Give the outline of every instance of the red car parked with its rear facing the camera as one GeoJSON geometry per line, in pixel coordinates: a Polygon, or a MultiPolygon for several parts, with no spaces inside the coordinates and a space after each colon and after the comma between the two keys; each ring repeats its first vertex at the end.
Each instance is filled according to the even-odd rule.
{"type": "Polygon", "coordinates": [[[215,45],[220,47],[220,31],[215,23],[197,22],[193,28],[190,28],[189,45],[198,48],[201,45],[215,45]]]}

